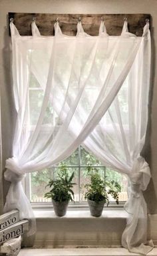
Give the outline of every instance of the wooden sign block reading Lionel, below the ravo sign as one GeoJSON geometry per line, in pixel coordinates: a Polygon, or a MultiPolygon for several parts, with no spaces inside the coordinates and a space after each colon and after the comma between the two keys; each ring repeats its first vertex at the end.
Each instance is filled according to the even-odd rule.
{"type": "Polygon", "coordinates": [[[0,245],[5,241],[9,241],[15,237],[19,237],[23,233],[29,230],[29,221],[27,219],[23,221],[19,221],[12,225],[11,227],[7,227],[0,231],[0,245]]]}

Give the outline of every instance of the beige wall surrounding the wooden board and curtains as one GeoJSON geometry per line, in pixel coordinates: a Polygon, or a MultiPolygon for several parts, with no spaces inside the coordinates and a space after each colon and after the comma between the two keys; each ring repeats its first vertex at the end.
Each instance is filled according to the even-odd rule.
{"type": "MultiPolygon", "coordinates": [[[[157,1],[156,0],[0,0],[0,83],[3,168],[11,156],[15,111],[11,97],[11,39],[8,35],[8,12],[30,13],[150,13],[152,16],[152,102],[146,145],[146,159],[152,170],[152,181],[145,193],[150,213],[157,213],[157,1]]],[[[2,175],[0,175],[1,185],[2,175]]],[[[5,184],[5,191],[7,186],[5,184]]],[[[0,210],[3,204],[0,186],[0,210]]]]}

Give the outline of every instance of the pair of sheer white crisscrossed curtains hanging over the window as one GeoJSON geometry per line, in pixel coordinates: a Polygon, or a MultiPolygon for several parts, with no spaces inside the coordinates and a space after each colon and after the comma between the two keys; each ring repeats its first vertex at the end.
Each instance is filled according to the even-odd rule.
{"type": "MultiPolygon", "coordinates": [[[[126,27],[126,23],[124,25],[126,27]]],[[[111,103],[126,81],[130,83],[130,89],[134,86],[135,80],[132,77],[135,74],[138,77],[136,67],[139,65],[136,59],[142,57],[144,63],[149,63],[148,24],[144,27],[143,37],[136,37],[126,29],[123,29],[119,37],[109,37],[104,23],[100,25],[97,37],[90,37],[84,33],[80,23],[77,37],[63,35],[58,23],[55,25],[55,31],[55,37],[42,37],[33,23],[33,37],[21,37],[11,23],[17,125],[13,157],[6,161],[5,179],[11,181],[11,187],[5,211],[18,208],[21,218],[33,217],[29,201],[21,186],[25,173],[41,171],[59,163],[69,157],[78,145],[84,143],[105,165],[110,165],[131,177],[134,161],[140,155],[146,133],[147,118],[144,121],[145,125],[142,125],[142,133],[140,129],[138,131],[138,135],[142,135],[138,137],[141,145],[138,153],[132,157],[132,147],[127,154],[130,161],[128,158],[125,159],[126,147],[122,151],[122,159],[110,148],[112,141],[109,141],[111,144],[108,145],[107,138],[114,138],[116,129],[123,146],[127,144],[124,140],[130,136],[129,132],[134,131],[131,129],[128,132],[128,129],[124,129],[122,132],[120,118],[114,122],[111,103]],[[29,96],[33,87],[41,90],[41,105],[31,108],[29,96]],[[108,114],[109,119],[106,118],[108,114]],[[110,129],[110,125],[114,129],[110,129]],[[106,129],[109,129],[109,133],[106,129]]],[[[144,65],[142,73],[145,72],[143,67],[144,65]]],[[[136,79],[136,88],[138,82],[141,85],[139,88],[143,88],[143,83],[147,88],[145,97],[139,93],[142,97],[142,106],[146,105],[148,100],[149,69],[148,66],[146,73],[136,79]]],[[[118,96],[113,105],[119,106],[118,96]]],[[[138,109],[139,113],[141,109],[138,109]]],[[[140,121],[142,122],[142,119],[140,121]]],[[[146,184],[144,183],[145,187],[150,179],[149,169],[147,170],[148,179],[146,184]]],[[[138,174],[138,171],[135,172],[138,174]]],[[[141,187],[138,192],[140,199],[144,200],[141,187]]],[[[146,219],[146,211],[144,213],[146,219]]],[[[138,218],[139,215],[136,214],[135,219],[138,218]]],[[[136,229],[136,223],[134,227],[136,229]]],[[[33,231],[35,228],[32,225],[30,233],[33,231]]],[[[145,242],[144,239],[142,237],[140,242],[145,242]]],[[[132,241],[126,240],[123,240],[124,246],[132,249],[132,246],[129,247],[132,241]]]]}

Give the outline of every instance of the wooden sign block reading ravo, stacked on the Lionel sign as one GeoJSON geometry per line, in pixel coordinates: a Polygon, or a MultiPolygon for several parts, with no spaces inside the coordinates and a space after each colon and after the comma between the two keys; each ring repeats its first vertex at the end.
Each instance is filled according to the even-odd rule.
{"type": "Polygon", "coordinates": [[[17,209],[9,211],[0,216],[0,231],[19,221],[19,211],[17,209]]]}

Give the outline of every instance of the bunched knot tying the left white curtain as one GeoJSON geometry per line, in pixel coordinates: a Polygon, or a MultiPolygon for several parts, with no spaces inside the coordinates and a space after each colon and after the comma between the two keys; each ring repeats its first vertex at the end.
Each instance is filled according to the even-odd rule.
{"type": "Polygon", "coordinates": [[[20,182],[25,177],[15,157],[7,159],[5,167],[7,171],[5,171],[4,177],[7,181],[11,181],[11,183],[20,182]]]}

